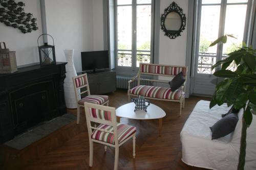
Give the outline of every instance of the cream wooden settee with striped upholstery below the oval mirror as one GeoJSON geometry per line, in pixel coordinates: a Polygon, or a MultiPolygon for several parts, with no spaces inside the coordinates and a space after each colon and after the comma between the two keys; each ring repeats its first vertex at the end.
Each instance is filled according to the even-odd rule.
{"type": "Polygon", "coordinates": [[[131,96],[143,95],[146,99],[153,100],[162,100],[162,101],[171,101],[171,102],[180,102],[180,114],[181,109],[185,106],[185,83],[181,88],[172,91],[168,87],[158,87],[158,86],[146,86],[140,85],[140,81],[151,81],[159,83],[168,83],[180,72],[183,73],[185,79],[187,78],[187,66],[175,66],[175,65],[159,65],[159,64],[144,64],[140,63],[139,71],[137,76],[128,81],[128,98],[130,101],[131,96]],[[170,77],[169,81],[166,80],[150,80],[150,79],[141,79],[141,75],[151,75],[151,76],[163,76],[170,77]],[[131,88],[131,84],[136,81],[138,82],[137,86],[131,88]]]}

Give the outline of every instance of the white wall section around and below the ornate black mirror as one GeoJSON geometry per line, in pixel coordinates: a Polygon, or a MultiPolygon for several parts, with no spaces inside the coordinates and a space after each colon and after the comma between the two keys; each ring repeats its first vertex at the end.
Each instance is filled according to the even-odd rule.
{"type": "MultiPolygon", "coordinates": [[[[161,0],[160,3],[160,16],[164,12],[173,0],[161,0]]],[[[188,0],[175,1],[180,8],[183,9],[183,13],[188,13],[188,0]]],[[[186,21],[187,22],[187,21],[186,21]]],[[[169,39],[164,35],[164,32],[159,29],[159,63],[170,65],[185,65],[186,62],[186,44],[187,44],[187,26],[181,33],[181,36],[175,39],[169,39]]]]}

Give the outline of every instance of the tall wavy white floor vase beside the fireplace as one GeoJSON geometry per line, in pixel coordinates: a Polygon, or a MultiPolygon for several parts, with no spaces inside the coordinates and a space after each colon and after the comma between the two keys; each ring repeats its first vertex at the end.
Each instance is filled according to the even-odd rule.
{"type": "Polygon", "coordinates": [[[77,108],[76,95],[73,84],[73,77],[77,76],[73,61],[74,49],[66,49],[64,50],[64,53],[68,62],[66,64],[66,79],[64,80],[66,107],[74,109],[77,108]]]}

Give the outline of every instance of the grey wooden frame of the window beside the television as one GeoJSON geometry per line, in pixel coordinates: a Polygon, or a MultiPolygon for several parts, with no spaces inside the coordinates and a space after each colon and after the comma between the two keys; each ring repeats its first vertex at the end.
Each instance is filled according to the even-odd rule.
{"type": "Polygon", "coordinates": [[[154,0],[151,4],[137,4],[137,0],[132,0],[132,4],[117,5],[118,0],[115,1],[115,69],[118,72],[122,71],[138,71],[139,67],[136,66],[137,52],[150,52],[150,63],[154,62],[154,0]],[[137,50],[137,6],[151,5],[151,50],[143,51],[137,50]],[[117,7],[118,6],[132,6],[132,50],[119,50],[118,49],[118,26],[117,26],[117,7]],[[118,51],[132,52],[132,66],[118,66],[118,51]]]}

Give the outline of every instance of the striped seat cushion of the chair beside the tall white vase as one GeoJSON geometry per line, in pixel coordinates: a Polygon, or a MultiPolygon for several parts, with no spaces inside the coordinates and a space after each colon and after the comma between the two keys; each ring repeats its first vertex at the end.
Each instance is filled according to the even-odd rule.
{"type": "Polygon", "coordinates": [[[83,105],[84,102],[101,105],[109,100],[108,95],[88,95],[78,101],[79,105],[83,105]]]}

